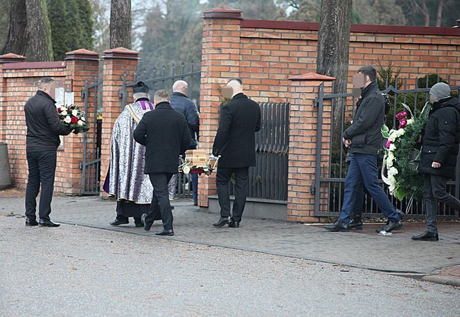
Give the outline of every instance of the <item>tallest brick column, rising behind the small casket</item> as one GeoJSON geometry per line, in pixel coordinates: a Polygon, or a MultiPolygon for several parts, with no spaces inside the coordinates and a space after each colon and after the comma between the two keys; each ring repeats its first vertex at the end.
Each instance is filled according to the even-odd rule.
{"type": "MultiPolygon", "coordinates": [[[[241,10],[221,6],[203,12],[200,148],[211,154],[219,125],[220,87],[240,75],[241,10]]],[[[200,178],[198,204],[208,207],[216,194],[215,174],[200,178]]]]}

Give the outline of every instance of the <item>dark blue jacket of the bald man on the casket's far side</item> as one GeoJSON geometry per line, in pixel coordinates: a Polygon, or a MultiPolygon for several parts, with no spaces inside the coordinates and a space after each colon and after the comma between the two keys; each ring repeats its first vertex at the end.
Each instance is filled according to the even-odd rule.
{"type": "Polygon", "coordinates": [[[197,148],[197,138],[195,133],[198,133],[200,127],[200,116],[198,110],[192,100],[188,99],[184,93],[172,93],[170,104],[172,109],[184,115],[188,124],[188,132],[190,133],[191,143],[188,149],[197,148]]]}

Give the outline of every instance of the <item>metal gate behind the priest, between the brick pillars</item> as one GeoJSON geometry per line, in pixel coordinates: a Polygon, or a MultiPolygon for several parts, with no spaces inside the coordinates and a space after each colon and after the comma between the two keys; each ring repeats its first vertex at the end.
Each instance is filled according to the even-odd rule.
{"type": "MultiPolygon", "coordinates": [[[[128,89],[132,88],[136,82],[142,81],[148,85],[153,98],[154,91],[165,89],[168,93],[172,93],[172,84],[176,80],[185,80],[188,84],[188,98],[197,106],[200,111],[200,84],[201,84],[201,70],[195,69],[195,64],[190,62],[188,66],[184,62],[176,66],[175,63],[170,65],[167,69],[165,65],[159,69],[154,67],[151,71],[142,71],[134,73],[134,82],[127,82],[126,73],[123,75],[123,86],[120,91],[121,110],[125,108],[127,103],[132,102],[131,97],[127,93],[128,89]]],[[[130,89],[130,91],[132,91],[130,89]]],[[[199,136],[197,136],[198,138],[199,136]]],[[[179,159],[179,158],[178,158],[179,159]]],[[[192,181],[183,173],[179,173],[177,177],[177,193],[176,197],[191,197],[192,196],[192,181]]]]}

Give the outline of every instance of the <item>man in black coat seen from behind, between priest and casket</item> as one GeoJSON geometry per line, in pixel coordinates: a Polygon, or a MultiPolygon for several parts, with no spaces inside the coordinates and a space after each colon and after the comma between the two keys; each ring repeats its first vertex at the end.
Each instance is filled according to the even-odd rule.
{"type": "Polygon", "coordinates": [[[184,115],[172,109],[166,91],[161,89],[154,94],[154,105],[155,109],[144,114],[134,129],[134,140],[145,145],[144,173],[153,185],[152,203],[141,220],[148,231],[161,215],[163,230],[155,235],[174,235],[168,182],[177,173],[179,155],[187,150],[191,138],[184,115]]]}

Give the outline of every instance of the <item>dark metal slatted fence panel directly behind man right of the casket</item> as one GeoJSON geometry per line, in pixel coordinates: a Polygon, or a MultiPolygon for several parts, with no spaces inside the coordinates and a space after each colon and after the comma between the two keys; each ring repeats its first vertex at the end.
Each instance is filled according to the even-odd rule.
{"type": "MultiPolygon", "coordinates": [[[[256,166],[249,167],[248,197],[288,200],[289,103],[260,103],[256,166]]],[[[233,184],[230,183],[233,194],[233,184]]]]}

